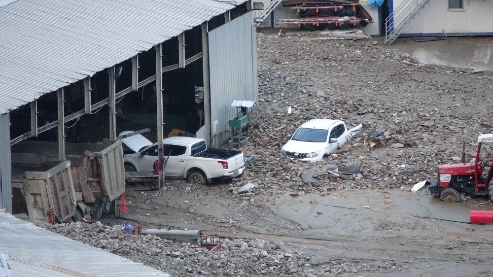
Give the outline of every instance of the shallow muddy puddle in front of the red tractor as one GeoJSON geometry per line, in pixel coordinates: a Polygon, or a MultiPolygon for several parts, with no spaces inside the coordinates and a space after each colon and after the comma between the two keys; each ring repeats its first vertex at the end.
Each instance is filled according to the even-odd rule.
{"type": "Polygon", "coordinates": [[[390,190],[388,193],[381,190],[364,190],[334,192],[325,196],[285,195],[276,201],[272,210],[277,216],[314,234],[327,232],[349,235],[388,228],[447,230],[462,234],[471,229],[493,230],[491,224],[467,224],[471,210],[493,210],[493,205],[443,202],[433,198],[425,189],[418,193],[401,190],[390,190]]]}

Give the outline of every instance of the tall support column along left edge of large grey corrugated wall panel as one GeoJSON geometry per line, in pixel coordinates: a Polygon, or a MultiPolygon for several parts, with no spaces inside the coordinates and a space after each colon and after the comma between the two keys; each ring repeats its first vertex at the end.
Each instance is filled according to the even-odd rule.
{"type": "Polygon", "coordinates": [[[209,34],[207,22],[202,23],[202,68],[204,78],[204,125],[207,146],[211,146],[211,84],[209,76],[209,34]]]}

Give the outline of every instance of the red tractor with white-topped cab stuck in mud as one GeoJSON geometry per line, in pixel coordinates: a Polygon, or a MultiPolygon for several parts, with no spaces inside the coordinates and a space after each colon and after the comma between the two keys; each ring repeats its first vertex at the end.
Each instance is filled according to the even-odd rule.
{"type": "MultiPolygon", "coordinates": [[[[465,163],[464,154],[462,154],[461,164],[439,165],[438,180],[430,183],[430,193],[440,197],[442,201],[459,202],[465,193],[489,195],[490,199],[493,199],[493,157],[488,150],[483,149],[481,152],[483,143],[493,145],[493,134],[478,137],[476,158],[471,163],[465,163]]],[[[483,148],[490,149],[489,147],[483,148]]]]}

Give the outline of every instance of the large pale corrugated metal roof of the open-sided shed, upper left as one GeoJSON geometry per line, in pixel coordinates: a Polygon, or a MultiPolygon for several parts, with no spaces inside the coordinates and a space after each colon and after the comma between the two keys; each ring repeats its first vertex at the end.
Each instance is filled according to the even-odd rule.
{"type": "Polygon", "coordinates": [[[245,0],[7,2],[0,6],[0,114],[130,59],[245,0]]]}

